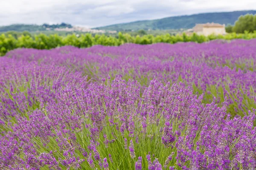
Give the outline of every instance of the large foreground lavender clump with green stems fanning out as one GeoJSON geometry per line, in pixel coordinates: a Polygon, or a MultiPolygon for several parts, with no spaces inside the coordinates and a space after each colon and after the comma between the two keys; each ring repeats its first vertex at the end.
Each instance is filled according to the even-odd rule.
{"type": "Polygon", "coordinates": [[[153,79],[140,96],[137,81],[116,78],[111,83],[108,77],[88,88],[67,86],[56,99],[54,105],[29,113],[29,118],[18,116],[16,124],[8,125],[11,130],[0,136],[0,166],[13,170],[256,167],[255,111],[231,119],[227,101],[221,107],[215,100],[203,104],[203,95],[194,95],[182,83],[163,85],[153,79]],[[134,136],[130,126],[135,126],[134,136]],[[138,143],[133,142],[136,139],[138,143]]]}

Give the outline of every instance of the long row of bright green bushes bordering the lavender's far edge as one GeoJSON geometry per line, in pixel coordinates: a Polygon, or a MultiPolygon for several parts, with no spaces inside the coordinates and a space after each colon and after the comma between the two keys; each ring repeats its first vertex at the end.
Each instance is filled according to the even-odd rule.
{"type": "Polygon", "coordinates": [[[67,35],[66,37],[54,35],[38,34],[34,37],[30,35],[21,35],[15,38],[11,34],[0,35],[0,55],[3,56],[6,52],[15,48],[36,48],[36,49],[51,49],[64,45],[73,45],[79,48],[90,47],[92,45],[122,45],[124,43],[136,43],[136,44],[152,44],[157,42],[177,43],[177,42],[206,42],[209,40],[233,40],[233,39],[253,39],[256,38],[256,31],[253,33],[244,32],[244,34],[230,33],[227,35],[209,35],[205,37],[203,35],[192,34],[190,36],[186,34],[182,35],[144,35],[142,37],[132,37],[130,34],[119,33],[117,37],[106,36],[104,34],[96,34],[94,37],[91,34],[82,34],[76,37],[75,34],[67,35]]]}

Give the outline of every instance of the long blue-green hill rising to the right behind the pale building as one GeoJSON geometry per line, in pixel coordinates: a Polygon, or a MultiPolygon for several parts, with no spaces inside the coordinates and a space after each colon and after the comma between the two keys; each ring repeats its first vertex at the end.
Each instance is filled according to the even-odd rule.
{"type": "Polygon", "coordinates": [[[256,11],[233,11],[214,12],[204,14],[183,15],[177,17],[167,17],[158,20],[143,20],[131,23],[114,24],[110,26],[97,27],[93,29],[131,31],[131,30],[167,30],[180,28],[193,28],[197,23],[220,23],[233,25],[240,15],[256,14],[256,11]]]}

